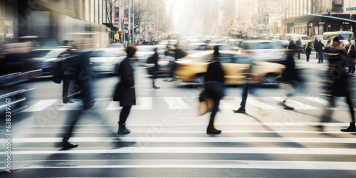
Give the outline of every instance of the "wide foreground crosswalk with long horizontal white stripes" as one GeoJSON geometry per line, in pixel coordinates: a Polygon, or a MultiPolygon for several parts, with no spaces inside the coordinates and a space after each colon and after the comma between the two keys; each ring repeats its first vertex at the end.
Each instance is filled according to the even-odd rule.
{"type": "Polygon", "coordinates": [[[336,132],[345,123],[330,122],[330,129],[320,132],[313,129],[315,122],[297,122],[290,125],[296,129],[283,132],[273,129],[283,122],[230,121],[216,122],[221,135],[206,135],[202,120],[163,127],[129,122],[131,134],[120,137],[105,136],[110,133],[93,123],[82,124],[70,139],[79,147],[71,150],[56,147],[61,143],[56,135],[66,125],[27,123],[21,127],[28,136],[12,139],[14,172],[19,171],[16,177],[98,176],[86,172],[105,172],[100,177],[284,177],[288,172],[291,177],[355,176],[356,137],[336,132]]]}

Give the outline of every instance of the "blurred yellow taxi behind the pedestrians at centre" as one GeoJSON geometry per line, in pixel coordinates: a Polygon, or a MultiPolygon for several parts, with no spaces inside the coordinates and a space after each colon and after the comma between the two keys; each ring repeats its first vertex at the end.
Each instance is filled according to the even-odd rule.
{"type": "MultiPolygon", "coordinates": [[[[241,55],[237,51],[219,51],[219,60],[225,71],[226,84],[243,84],[248,76],[249,66],[253,64],[255,78],[253,81],[262,85],[276,86],[275,78],[282,73],[284,65],[266,61],[251,61],[247,55],[241,55]]],[[[174,78],[195,85],[204,83],[204,75],[213,58],[214,51],[202,51],[186,56],[176,61],[177,69],[174,78]]]]}

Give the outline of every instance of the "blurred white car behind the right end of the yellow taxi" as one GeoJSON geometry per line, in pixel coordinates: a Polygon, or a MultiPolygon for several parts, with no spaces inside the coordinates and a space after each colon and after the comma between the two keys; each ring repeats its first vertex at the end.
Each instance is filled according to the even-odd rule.
{"type": "Polygon", "coordinates": [[[248,40],[241,43],[240,53],[250,56],[256,61],[280,63],[286,59],[284,49],[279,41],[248,40]]]}

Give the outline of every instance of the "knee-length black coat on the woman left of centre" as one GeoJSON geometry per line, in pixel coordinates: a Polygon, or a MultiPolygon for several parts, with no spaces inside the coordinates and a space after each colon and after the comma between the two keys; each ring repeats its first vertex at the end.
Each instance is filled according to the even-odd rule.
{"type": "Polygon", "coordinates": [[[120,106],[136,105],[136,92],[134,68],[130,63],[130,58],[125,58],[117,71],[120,76],[120,82],[117,83],[114,93],[114,101],[120,101],[120,106]]]}

